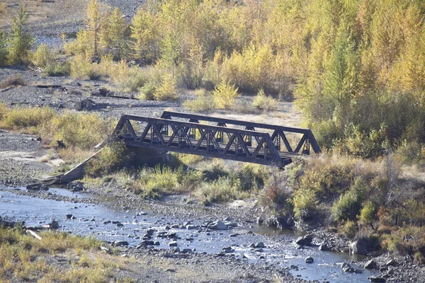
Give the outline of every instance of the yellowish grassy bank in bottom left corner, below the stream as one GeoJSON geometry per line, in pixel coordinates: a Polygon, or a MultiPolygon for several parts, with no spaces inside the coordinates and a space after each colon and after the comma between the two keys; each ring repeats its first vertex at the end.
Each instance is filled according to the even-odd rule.
{"type": "Polygon", "coordinates": [[[41,240],[19,227],[0,226],[1,282],[133,282],[117,277],[132,260],[107,255],[100,241],[69,233],[39,234],[41,240]]]}

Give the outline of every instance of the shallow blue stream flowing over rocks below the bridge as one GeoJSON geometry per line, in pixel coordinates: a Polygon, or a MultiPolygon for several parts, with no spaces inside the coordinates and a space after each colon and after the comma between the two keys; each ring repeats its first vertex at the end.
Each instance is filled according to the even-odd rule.
{"type": "MultiPolygon", "coordinates": [[[[128,241],[130,246],[140,243],[140,238],[145,235],[147,229],[177,233],[181,240],[177,240],[179,248],[191,248],[196,253],[220,253],[222,248],[231,246],[233,254],[237,258],[243,256],[249,262],[267,262],[280,267],[297,265],[298,270],[291,270],[295,277],[303,279],[320,280],[329,282],[368,282],[368,277],[374,272],[363,270],[362,274],[346,273],[341,269],[341,262],[356,260],[347,253],[335,253],[320,251],[316,247],[298,249],[293,244],[297,235],[291,231],[278,231],[263,226],[237,227],[227,231],[206,231],[205,229],[170,229],[166,226],[183,224],[187,219],[179,219],[177,216],[160,214],[145,214],[135,210],[118,211],[102,205],[84,204],[79,202],[87,196],[83,193],[69,192],[65,189],[50,189],[52,194],[66,197],[74,197],[74,202],[62,202],[57,200],[42,200],[38,197],[16,195],[6,187],[0,187],[0,216],[8,216],[14,221],[25,221],[26,225],[47,224],[52,219],[60,223],[60,230],[71,231],[81,236],[95,236],[103,241],[128,241]],[[67,219],[66,215],[72,214],[75,219],[67,219]],[[119,221],[117,224],[103,224],[103,221],[119,221]],[[248,231],[254,232],[253,234],[248,231]],[[239,236],[230,237],[231,234],[239,233],[239,236]],[[193,241],[186,241],[193,238],[193,241]],[[251,243],[263,242],[266,248],[262,252],[250,248],[251,243]],[[307,256],[314,258],[312,264],[304,262],[307,256]]],[[[193,224],[202,224],[201,221],[193,224]]],[[[154,236],[157,233],[154,234],[154,236]]],[[[157,248],[169,248],[166,238],[154,238],[159,241],[157,248]]]]}

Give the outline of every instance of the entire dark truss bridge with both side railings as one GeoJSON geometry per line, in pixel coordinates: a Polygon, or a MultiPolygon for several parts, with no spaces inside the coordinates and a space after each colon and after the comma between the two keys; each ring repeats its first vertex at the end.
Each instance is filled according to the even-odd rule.
{"type": "Polygon", "coordinates": [[[122,115],[113,135],[129,147],[278,167],[321,152],[310,129],[170,111],[160,118],[122,115]]]}

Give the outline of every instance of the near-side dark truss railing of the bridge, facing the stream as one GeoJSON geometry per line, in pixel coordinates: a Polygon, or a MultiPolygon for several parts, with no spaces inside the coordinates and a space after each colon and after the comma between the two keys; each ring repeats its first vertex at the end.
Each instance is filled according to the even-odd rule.
{"type": "Polygon", "coordinates": [[[249,129],[122,115],[113,134],[128,146],[277,166],[291,162],[279,154],[270,134],[249,129]]]}

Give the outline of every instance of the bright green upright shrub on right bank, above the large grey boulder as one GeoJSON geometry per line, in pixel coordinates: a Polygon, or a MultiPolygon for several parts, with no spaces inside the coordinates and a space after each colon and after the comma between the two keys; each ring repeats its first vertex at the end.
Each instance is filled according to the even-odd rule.
{"type": "Polygon", "coordinates": [[[359,178],[351,188],[339,197],[332,206],[332,214],[335,221],[355,220],[361,211],[361,204],[370,189],[359,178]]]}

